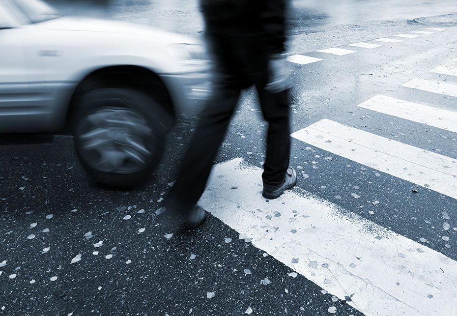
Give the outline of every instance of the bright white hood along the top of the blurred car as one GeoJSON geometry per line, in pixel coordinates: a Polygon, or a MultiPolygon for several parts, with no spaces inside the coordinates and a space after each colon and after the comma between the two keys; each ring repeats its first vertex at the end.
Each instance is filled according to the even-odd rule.
{"type": "Polygon", "coordinates": [[[107,32],[125,34],[129,36],[140,36],[149,39],[153,38],[156,41],[164,43],[197,43],[197,41],[192,37],[174,34],[143,25],[112,20],[61,17],[43,22],[40,26],[45,29],[54,30],[107,32]]]}

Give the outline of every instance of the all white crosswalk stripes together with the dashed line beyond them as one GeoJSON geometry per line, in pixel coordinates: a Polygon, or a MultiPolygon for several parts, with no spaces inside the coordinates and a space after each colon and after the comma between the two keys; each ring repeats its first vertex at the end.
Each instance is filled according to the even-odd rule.
{"type": "MultiPolygon", "coordinates": [[[[416,33],[444,31],[428,30],[416,33]]],[[[359,42],[348,46],[373,49],[381,45],[359,42]]],[[[331,48],[317,52],[338,56],[356,53],[346,51],[331,48]]],[[[300,64],[323,60],[313,58],[295,55],[288,60],[300,64]]],[[[429,72],[456,76],[457,68],[438,66],[429,72]]],[[[457,97],[457,84],[441,80],[413,78],[401,86],[457,97]]],[[[457,133],[457,112],[437,105],[378,94],[357,107],[457,133]]],[[[456,158],[325,118],[291,137],[457,200],[456,158]]],[[[200,206],[236,230],[240,239],[251,241],[265,255],[367,316],[455,315],[456,260],[425,246],[424,240],[407,238],[300,188],[277,200],[265,200],[259,194],[261,172],[241,158],[217,165],[200,206]]],[[[457,231],[457,227],[451,230],[457,231]]]]}

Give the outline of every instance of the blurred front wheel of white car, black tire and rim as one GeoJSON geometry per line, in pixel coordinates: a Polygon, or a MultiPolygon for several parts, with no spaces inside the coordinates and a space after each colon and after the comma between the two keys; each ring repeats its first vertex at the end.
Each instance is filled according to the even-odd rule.
{"type": "Polygon", "coordinates": [[[160,104],[141,91],[96,89],[76,102],[76,152],[92,180],[133,187],[160,163],[170,122],[160,104]]]}

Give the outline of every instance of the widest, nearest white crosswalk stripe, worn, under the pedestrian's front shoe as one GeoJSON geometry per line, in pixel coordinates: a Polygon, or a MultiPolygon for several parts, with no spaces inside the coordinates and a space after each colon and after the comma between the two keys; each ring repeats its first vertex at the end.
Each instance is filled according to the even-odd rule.
{"type": "Polygon", "coordinates": [[[200,206],[367,316],[455,315],[456,261],[298,188],[267,202],[261,173],[240,158],[216,166],[200,206]]]}

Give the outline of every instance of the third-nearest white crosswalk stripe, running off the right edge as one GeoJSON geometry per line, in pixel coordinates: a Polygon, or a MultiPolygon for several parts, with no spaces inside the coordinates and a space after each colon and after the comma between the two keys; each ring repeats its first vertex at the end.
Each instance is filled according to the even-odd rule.
{"type": "Polygon", "coordinates": [[[457,133],[457,112],[403,101],[384,95],[376,95],[359,104],[358,107],[457,133]]]}

